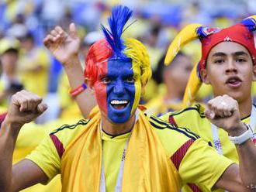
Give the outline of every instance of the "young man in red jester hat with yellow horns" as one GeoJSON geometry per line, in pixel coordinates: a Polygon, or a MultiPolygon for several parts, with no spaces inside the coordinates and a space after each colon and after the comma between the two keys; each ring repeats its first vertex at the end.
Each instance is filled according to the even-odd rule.
{"type": "MultiPolygon", "coordinates": [[[[223,108],[229,108],[225,99],[230,96],[238,103],[241,121],[251,126],[251,139],[256,144],[256,107],[252,104],[251,84],[256,80],[256,50],[253,31],[256,29],[256,15],[227,29],[214,29],[199,24],[186,26],[169,46],[165,63],[169,63],[175,53],[185,43],[199,37],[202,43],[202,59],[194,68],[185,91],[184,105],[192,105],[195,94],[202,83],[213,87],[214,97],[223,108]],[[228,95],[228,96],[227,96],[228,95]]],[[[237,148],[243,145],[242,136],[229,139],[227,132],[217,129],[204,113],[205,107],[194,104],[182,111],[164,115],[166,121],[176,126],[189,127],[202,139],[209,142],[216,151],[239,163],[237,148]]],[[[250,186],[251,187],[251,186],[250,186]]],[[[202,186],[200,190],[206,191],[202,186]]],[[[255,189],[255,184],[252,183],[255,189]]],[[[190,191],[189,189],[185,191],[190,191]]]]}

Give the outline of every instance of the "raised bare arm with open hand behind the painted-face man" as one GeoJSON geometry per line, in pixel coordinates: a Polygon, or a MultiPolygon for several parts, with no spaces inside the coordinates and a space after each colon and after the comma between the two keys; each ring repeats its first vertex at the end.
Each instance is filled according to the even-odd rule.
{"type": "MultiPolygon", "coordinates": [[[[70,25],[69,34],[65,33],[60,26],[55,27],[55,29],[43,39],[43,44],[50,50],[50,53],[62,63],[71,90],[74,90],[85,82],[81,63],[78,58],[80,39],[78,38],[74,23],[70,25]]],[[[96,105],[95,96],[90,87],[88,86],[85,91],[78,94],[74,100],[77,102],[81,114],[85,118],[88,118],[90,111],[96,105]]]]}

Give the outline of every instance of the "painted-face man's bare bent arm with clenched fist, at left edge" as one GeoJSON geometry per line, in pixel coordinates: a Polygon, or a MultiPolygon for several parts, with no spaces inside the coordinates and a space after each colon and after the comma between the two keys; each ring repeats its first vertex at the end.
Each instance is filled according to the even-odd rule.
{"type": "Polygon", "coordinates": [[[0,129],[0,189],[3,191],[19,190],[47,179],[43,171],[29,160],[24,160],[12,169],[12,154],[19,130],[47,109],[47,105],[41,102],[42,98],[27,91],[12,96],[0,129]]]}

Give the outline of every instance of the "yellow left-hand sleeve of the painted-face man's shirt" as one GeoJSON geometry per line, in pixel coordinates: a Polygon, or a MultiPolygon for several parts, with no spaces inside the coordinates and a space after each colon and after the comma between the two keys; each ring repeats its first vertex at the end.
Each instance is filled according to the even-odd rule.
{"type": "Polygon", "coordinates": [[[36,149],[26,156],[33,161],[47,175],[48,182],[52,180],[61,170],[61,158],[57,152],[54,142],[47,135],[36,149]]]}

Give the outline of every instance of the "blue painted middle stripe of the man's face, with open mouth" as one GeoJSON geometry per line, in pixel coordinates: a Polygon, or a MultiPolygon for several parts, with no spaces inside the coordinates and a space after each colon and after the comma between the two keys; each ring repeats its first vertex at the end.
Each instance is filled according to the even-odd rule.
{"type": "Polygon", "coordinates": [[[127,122],[134,111],[135,86],[131,62],[109,60],[106,75],[108,117],[112,122],[127,122]]]}

